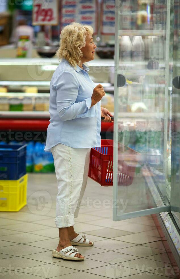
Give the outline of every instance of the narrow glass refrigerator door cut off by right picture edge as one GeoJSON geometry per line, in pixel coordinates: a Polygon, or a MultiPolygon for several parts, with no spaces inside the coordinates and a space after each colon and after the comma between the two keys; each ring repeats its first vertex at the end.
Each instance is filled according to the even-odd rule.
{"type": "Polygon", "coordinates": [[[180,228],[180,6],[174,7],[171,211],[180,228]]]}

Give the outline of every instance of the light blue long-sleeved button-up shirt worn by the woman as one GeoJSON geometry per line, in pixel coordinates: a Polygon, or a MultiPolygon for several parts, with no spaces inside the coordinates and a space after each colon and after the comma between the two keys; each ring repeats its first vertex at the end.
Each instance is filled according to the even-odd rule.
{"type": "Polygon", "coordinates": [[[62,59],[50,83],[51,119],[44,151],[58,143],[74,148],[101,147],[101,101],[91,106],[95,83],[83,64],[75,69],[62,59]]]}

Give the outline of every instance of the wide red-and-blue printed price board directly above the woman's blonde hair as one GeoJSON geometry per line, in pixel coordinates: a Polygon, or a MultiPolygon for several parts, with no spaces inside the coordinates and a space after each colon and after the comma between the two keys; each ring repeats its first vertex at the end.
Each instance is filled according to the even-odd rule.
{"type": "Polygon", "coordinates": [[[60,30],[71,22],[88,24],[97,34],[97,0],[62,0],[60,6],[60,30]]]}

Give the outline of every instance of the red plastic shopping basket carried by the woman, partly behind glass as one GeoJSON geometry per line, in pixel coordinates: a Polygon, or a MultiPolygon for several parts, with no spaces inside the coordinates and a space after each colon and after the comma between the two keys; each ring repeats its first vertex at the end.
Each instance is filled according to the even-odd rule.
{"type": "MultiPolygon", "coordinates": [[[[118,159],[118,186],[129,186],[133,182],[135,164],[128,163],[124,158],[124,149],[127,157],[137,153],[133,149],[120,144],[122,159],[118,159]]],[[[127,158],[126,157],[126,158],[127,158]]],[[[88,176],[101,186],[113,185],[113,140],[101,139],[101,147],[91,148],[88,176]]]]}

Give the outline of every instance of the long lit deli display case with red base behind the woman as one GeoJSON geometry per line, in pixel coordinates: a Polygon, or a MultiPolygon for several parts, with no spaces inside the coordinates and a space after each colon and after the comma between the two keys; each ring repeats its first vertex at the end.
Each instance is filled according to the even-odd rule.
{"type": "MultiPolygon", "coordinates": [[[[58,58],[0,58],[0,125],[2,131],[29,129],[46,131],[49,124],[49,86],[58,58]],[[11,70],[9,70],[11,67],[11,70]],[[28,122],[27,122],[28,121],[28,122]]],[[[95,59],[87,63],[95,85],[106,91],[101,105],[114,111],[114,60],[95,59]]],[[[103,133],[111,126],[102,122],[103,133]]]]}

